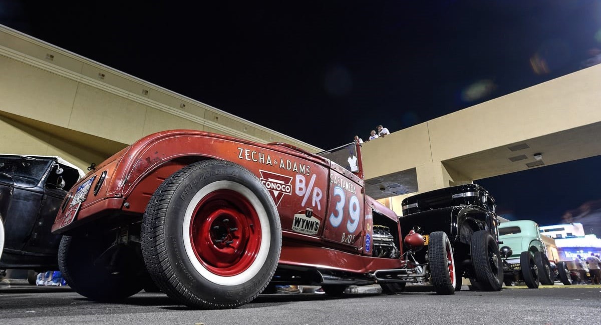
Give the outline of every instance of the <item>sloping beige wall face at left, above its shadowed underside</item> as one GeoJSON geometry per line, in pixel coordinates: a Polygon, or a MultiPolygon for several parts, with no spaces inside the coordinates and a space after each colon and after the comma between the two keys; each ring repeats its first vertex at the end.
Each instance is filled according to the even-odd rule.
{"type": "MultiPolygon", "coordinates": [[[[0,25],[2,112],[125,144],[160,130],[197,129],[321,151],[0,25]]],[[[0,150],[8,147],[0,143],[0,150]]]]}

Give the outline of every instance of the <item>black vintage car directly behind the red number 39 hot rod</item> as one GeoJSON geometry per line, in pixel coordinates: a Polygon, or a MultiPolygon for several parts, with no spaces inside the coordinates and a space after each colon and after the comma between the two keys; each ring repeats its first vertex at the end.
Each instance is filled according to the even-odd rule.
{"type": "MultiPolygon", "coordinates": [[[[478,184],[465,184],[419,193],[403,200],[401,233],[412,229],[428,235],[445,232],[453,247],[455,290],[462,287],[462,277],[470,288],[501,290],[503,267],[499,252],[499,220],[495,199],[478,184]],[[418,228],[416,228],[418,227],[418,228]]],[[[449,253],[451,254],[451,253],[449,253]]],[[[426,263],[427,250],[418,252],[418,263],[426,263]]]]}

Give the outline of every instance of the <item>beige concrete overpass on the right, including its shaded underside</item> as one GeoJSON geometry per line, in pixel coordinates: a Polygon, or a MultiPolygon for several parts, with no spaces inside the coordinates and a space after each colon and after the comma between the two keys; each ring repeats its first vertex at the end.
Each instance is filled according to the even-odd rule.
{"type": "Polygon", "coordinates": [[[396,194],[392,206],[400,207],[404,184],[424,192],[598,156],[600,90],[596,65],[370,141],[362,151],[367,193],[396,194]]]}

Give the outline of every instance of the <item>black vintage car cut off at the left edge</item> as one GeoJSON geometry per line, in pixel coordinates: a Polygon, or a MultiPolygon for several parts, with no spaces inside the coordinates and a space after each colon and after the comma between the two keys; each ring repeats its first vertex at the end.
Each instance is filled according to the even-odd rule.
{"type": "Polygon", "coordinates": [[[83,175],[61,157],[0,154],[0,270],[58,270],[50,227],[83,175]]]}

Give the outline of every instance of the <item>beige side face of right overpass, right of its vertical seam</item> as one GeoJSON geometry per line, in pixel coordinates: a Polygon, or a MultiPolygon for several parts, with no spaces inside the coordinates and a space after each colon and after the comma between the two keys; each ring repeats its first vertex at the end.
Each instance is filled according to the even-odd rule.
{"type": "Polygon", "coordinates": [[[601,121],[599,89],[601,65],[596,65],[428,121],[432,159],[444,161],[601,121]]]}

